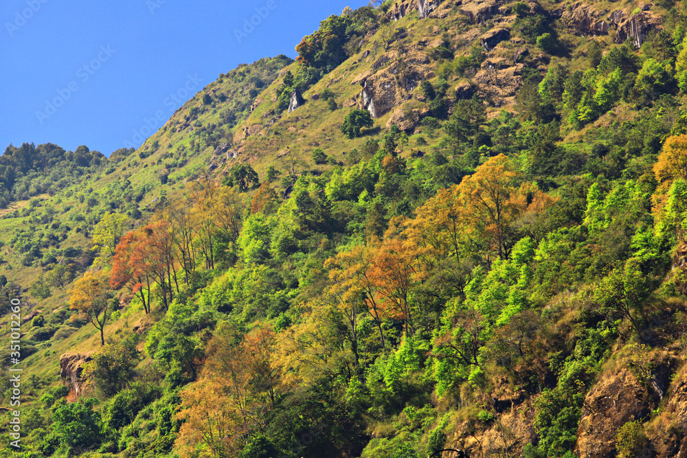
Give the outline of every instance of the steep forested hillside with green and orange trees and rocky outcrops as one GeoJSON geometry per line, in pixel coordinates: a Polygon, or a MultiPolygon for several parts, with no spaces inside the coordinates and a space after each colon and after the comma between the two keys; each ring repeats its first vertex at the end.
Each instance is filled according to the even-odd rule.
{"type": "Polygon", "coordinates": [[[295,49],[137,150],[0,157],[22,453],[684,456],[682,3],[385,1],[295,49]]]}

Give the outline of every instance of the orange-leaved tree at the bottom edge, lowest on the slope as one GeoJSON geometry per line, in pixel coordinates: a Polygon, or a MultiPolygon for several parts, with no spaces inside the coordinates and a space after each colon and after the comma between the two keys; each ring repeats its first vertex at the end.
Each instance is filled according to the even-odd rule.
{"type": "Polygon", "coordinates": [[[207,345],[201,378],[181,391],[184,420],[175,447],[181,457],[236,456],[263,432],[282,384],[275,363],[275,332],[256,328],[243,336],[222,325],[207,345]]]}

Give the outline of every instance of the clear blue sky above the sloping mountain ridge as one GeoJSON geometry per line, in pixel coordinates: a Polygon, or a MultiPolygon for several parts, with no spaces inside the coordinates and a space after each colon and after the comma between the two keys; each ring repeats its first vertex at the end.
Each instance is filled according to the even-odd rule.
{"type": "Polygon", "coordinates": [[[1,0],[0,154],[26,141],[109,155],[146,118],[171,115],[220,73],[295,58],[319,21],[367,3],[1,0]],[[246,27],[251,19],[258,25],[246,27]],[[170,97],[183,89],[191,89],[185,100],[170,97]]]}

